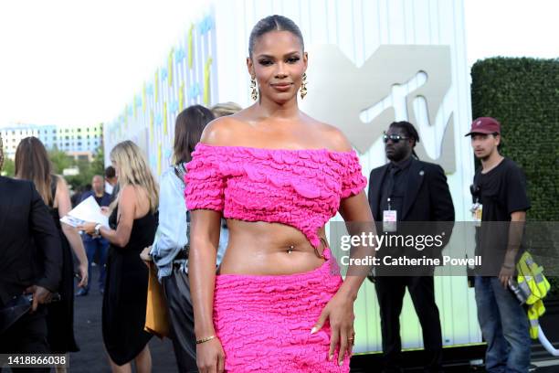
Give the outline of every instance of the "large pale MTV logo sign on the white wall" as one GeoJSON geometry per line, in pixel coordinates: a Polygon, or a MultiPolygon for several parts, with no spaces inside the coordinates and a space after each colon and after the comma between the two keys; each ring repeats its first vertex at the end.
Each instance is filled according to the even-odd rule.
{"type": "Polygon", "coordinates": [[[340,48],[311,48],[309,94],[301,102],[312,117],[342,129],[361,154],[389,123],[413,123],[417,154],[456,171],[453,111],[444,110],[451,86],[448,46],[378,48],[357,68],[340,48]]]}

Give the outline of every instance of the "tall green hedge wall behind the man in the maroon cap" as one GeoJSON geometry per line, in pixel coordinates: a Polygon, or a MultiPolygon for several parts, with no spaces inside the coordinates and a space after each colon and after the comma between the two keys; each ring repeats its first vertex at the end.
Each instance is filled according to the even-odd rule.
{"type": "MultiPolygon", "coordinates": [[[[532,202],[528,220],[559,222],[559,59],[476,62],[471,104],[473,118],[491,116],[501,122],[501,154],[526,174],[532,202]]],[[[553,251],[559,252],[557,244],[553,251]]],[[[549,261],[543,265],[554,267],[549,261]]],[[[559,279],[551,280],[556,296],[559,279]]]]}

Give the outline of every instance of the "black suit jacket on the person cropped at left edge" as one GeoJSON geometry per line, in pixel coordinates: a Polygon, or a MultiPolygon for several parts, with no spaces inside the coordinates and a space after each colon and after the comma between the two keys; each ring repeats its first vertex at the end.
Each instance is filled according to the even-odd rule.
{"type": "Polygon", "coordinates": [[[37,284],[55,292],[62,275],[58,229],[33,183],[0,176],[0,304],[37,284]]]}

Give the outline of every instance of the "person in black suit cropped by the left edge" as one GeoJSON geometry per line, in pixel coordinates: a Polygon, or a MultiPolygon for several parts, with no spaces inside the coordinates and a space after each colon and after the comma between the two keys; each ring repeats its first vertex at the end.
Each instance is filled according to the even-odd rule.
{"type": "MultiPolygon", "coordinates": [[[[3,161],[0,137],[0,170],[3,161]]],[[[23,293],[33,295],[31,311],[0,335],[0,353],[49,353],[41,304],[50,302],[57,291],[62,249],[58,231],[33,183],[0,176],[0,238],[0,310],[23,293]]],[[[50,368],[27,370],[47,372],[50,368]]]]}

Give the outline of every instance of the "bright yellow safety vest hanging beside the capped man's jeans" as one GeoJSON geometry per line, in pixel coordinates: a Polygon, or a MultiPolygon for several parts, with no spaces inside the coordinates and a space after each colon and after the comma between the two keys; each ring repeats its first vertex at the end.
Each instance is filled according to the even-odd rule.
{"type": "Polygon", "coordinates": [[[532,255],[526,251],[522,254],[520,261],[516,264],[518,271],[518,286],[522,293],[528,294],[526,304],[528,305],[528,320],[530,321],[530,336],[538,338],[538,319],[545,313],[543,298],[549,292],[551,285],[543,275],[543,268],[537,265],[532,255]]]}

